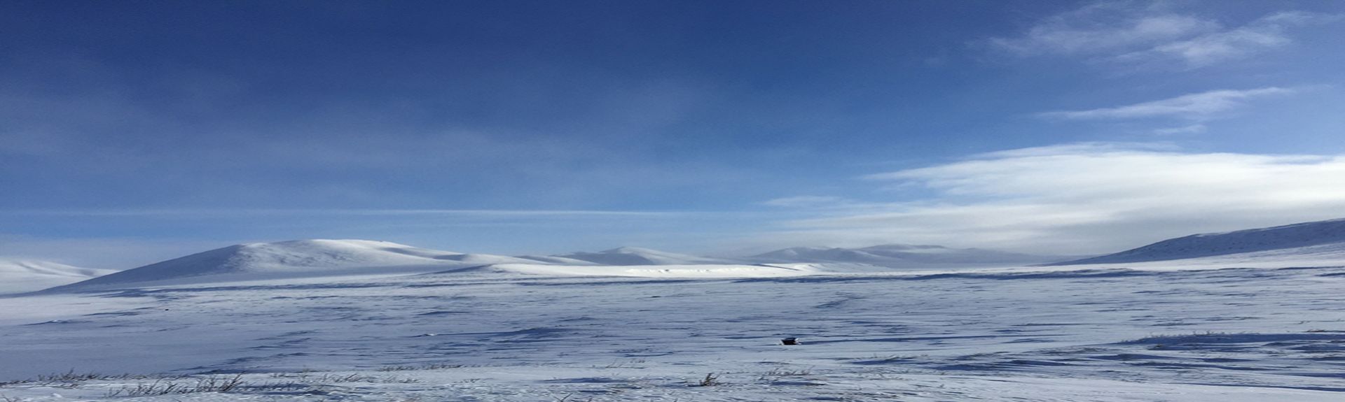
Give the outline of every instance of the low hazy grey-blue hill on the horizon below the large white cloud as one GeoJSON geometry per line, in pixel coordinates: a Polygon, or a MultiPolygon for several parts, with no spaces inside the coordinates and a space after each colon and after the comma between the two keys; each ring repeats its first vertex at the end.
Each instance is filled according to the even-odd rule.
{"type": "Polygon", "coordinates": [[[925,245],[880,245],[862,249],[791,247],[753,255],[751,259],[759,262],[869,264],[886,268],[1009,266],[1059,261],[1056,257],[1046,255],[925,245]]]}

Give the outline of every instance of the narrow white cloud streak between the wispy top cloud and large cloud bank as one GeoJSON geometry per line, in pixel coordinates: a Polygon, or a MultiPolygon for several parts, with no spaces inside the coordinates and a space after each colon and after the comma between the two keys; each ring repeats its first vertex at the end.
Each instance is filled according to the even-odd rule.
{"type": "Polygon", "coordinates": [[[1245,99],[1266,95],[1293,94],[1294,91],[1295,90],[1293,89],[1274,86],[1250,90],[1212,90],[1126,106],[1088,110],[1059,110],[1041,113],[1038,116],[1068,120],[1122,120],[1146,117],[1206,120],[1219,113],[1228,112],[1243,105],[1243,101],[1245,99]]]}

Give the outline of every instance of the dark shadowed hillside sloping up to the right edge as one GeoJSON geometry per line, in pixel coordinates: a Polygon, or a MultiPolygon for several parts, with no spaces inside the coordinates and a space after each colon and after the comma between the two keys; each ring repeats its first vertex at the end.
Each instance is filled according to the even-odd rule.
{"type": "Polygon", "coordinates": [[[1276,255],[1321,254],[1323,250],[1340,249],[1329,246],[1334,243],[1345,243],[1345,219],[1248,229],[1228,233],[1193,234],[1115,254],[1050,265],[1167,261],[1271,250],[1279,250],[1274,253],[1276,255]],[[1297,253],[1294,249],[1303,250],[1302,253],[1297,253]]]}

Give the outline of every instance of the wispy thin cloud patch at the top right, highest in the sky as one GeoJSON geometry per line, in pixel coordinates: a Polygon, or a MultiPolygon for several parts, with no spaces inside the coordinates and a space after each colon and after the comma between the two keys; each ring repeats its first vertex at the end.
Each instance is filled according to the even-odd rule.
{"type": "Polygon", "coordinates": [[[1021,36],[986,43],[1015,56],[1072,55],[1127,66],[1176,62],[1200,69],[1289,46],[1291,28],[1338,19],[1287,11],[1225,26],[1146,3],[1095,3],[1045,17],[1021,36]]]}

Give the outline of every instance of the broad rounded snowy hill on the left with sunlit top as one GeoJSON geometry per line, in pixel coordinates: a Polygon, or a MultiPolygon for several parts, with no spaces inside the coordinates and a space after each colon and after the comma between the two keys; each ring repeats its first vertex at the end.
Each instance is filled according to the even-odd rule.
{"type": "Polygon", "coordinates": [[[425,273],[502,262],[516,262],[516,258],[440,251],[379,241],[288,241],[227,246],[51,290],[86,290],[122,285],[175,285],[325,276],[425,273]]]}

